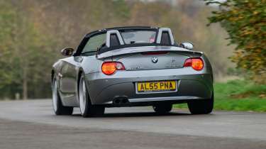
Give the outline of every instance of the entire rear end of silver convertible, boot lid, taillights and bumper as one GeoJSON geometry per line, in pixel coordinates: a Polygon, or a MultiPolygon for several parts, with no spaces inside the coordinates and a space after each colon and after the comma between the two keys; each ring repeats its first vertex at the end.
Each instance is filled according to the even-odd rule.
{"type": "Polygon", "coordinates": [[[122,51],[99,55],[99,71],[85,76],[92,104],[150,106],[211,98],[212,70],[203,53],[166,46],[122,51]]]}

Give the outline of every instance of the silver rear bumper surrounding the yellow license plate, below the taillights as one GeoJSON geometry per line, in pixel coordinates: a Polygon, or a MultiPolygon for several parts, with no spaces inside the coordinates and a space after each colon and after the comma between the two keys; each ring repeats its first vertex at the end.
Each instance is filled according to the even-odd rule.
{"type": "Polygon", "coordinates": [[[118,71],[111,76],[97,72],[85,77],[92,104],[109,106],[116,106],[113,100],[120,96],[128,99],[128,105],[148,105],[158,101],[176,103],[210,99],[213,91],[211,73],[206,69],[196,72],[189,67],[172,70],[118,71]],[[135,82],[160,80],[177,80],[177,92],[136,94],[135,82]]]}

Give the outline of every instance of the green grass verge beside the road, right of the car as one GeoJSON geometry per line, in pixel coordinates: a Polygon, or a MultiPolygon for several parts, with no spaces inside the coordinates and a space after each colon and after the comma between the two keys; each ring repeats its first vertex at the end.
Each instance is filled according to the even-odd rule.
{"type": "MultiPolygon", "coordinates": [[[[174,108],[187,109],[187,104],[174,108]]],[[[266,111],[266,84],[244,80],[214,84],[214,109],[227,111],[266,111]]]]}

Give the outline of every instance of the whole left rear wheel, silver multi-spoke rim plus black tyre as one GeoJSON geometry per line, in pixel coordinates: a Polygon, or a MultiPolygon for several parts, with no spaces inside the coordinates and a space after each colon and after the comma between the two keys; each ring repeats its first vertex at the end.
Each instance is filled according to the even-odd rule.
{"type": "Polygon", "coordinates": [[[105,109],[104,106],[92,105],[83,75],[79,79],[79,109],[83,117],[102,116],[105,109]]]}

